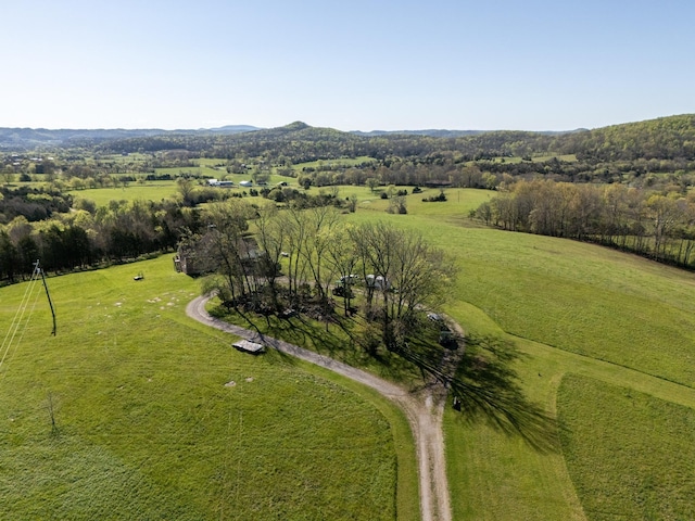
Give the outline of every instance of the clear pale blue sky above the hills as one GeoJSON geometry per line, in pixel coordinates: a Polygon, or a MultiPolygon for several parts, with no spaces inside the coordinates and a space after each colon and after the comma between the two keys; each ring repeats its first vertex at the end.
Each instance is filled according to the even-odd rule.
{"type": "Polygon", "coordinates": [[[693,0],[23,0],[0,127],[568,130],[695,113],[693,0]]]}

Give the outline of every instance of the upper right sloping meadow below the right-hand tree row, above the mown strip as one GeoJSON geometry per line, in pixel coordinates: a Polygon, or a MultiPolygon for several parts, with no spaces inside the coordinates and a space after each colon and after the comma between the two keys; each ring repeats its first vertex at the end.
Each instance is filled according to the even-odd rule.
{"type": "Polygon", "coordinates": [[[443,203],[408,195],[407,215],[351,218],[393,221],[447,251],[459,267],[451,302],[475,306],[506,333],[695,386],[695,274],[592,244],[478,228],[467,208],[490,192],[460,193],[443,203]]]}

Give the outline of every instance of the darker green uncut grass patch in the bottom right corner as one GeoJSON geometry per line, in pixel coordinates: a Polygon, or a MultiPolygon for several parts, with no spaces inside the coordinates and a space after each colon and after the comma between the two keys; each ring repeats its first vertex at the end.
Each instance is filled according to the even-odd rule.
{"type": "Polygon", "coordinates": [[[695,519],[694,409],[568,374],[558,418],[589,519],[695,519]]]}

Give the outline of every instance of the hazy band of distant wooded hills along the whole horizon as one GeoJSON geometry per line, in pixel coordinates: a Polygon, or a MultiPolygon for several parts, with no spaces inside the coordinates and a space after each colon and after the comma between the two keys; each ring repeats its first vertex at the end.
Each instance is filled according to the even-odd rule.
{"type": "Polygon", "coordinates": [[[470,161],[573,154],[594,162],[677,161],[671,165],[673,169],[692,170],[695,114],[560,132],[440,129],[345,132],[303,122],[275,128],[229,125],[178,130],[0,128],[0,151],[72,148],[102,154],[185,150],[190,156],[263,156],[278,164],[358,156],[470,161]]]}

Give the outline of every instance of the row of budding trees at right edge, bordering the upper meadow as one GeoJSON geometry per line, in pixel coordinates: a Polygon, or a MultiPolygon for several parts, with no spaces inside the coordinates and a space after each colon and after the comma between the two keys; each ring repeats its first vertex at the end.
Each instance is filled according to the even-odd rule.
{"type": "Polygon", "coordinates": [[[596,242],[695,269],[694,192],[520,180],[471,215],[505,230],[596,242]]]}

